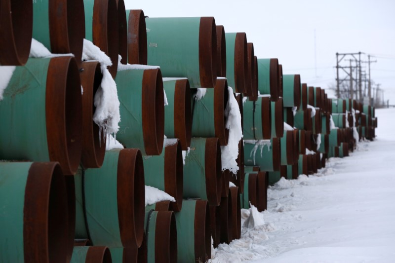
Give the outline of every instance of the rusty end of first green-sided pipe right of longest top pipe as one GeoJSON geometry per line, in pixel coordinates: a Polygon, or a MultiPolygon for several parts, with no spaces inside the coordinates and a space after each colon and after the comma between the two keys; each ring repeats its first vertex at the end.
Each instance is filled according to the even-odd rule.
{"type": "Polygon", "coordinates": [[[238,93],[247,92],[248,48],[245,33],[236,33],[235,39],[235,89],[238,93]]]}

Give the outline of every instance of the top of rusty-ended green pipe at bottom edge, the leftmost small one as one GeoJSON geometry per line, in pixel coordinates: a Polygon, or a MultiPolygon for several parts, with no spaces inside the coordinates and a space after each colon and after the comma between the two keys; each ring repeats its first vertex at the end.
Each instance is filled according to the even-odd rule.
{"type": "Polygon", "coordinates": [[[73,249],[70,263],[112,263],[111,256],[110,249],[105,246],[77,246],[73,249]]]}

